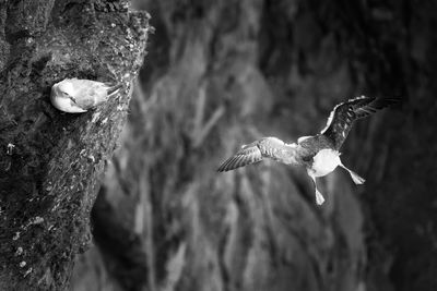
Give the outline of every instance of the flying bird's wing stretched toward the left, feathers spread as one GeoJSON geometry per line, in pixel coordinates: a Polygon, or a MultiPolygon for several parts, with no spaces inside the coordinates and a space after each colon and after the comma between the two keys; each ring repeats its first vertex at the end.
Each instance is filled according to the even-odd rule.
{"type": "Polygon", "coordinates": [[[244,145],[233,157],[225,160],[217,171],[231,171],[261,161],[263,158],[270,158],[287,165],[297,165],[296,153],[296,144],[285,144],[276,137],[263,137],[251,144],[244,145]]]}

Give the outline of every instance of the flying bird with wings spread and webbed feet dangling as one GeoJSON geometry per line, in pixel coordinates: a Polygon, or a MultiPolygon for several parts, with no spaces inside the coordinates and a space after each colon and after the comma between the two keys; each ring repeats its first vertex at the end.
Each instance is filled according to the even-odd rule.
{"type": "Polygon", "coordinates": [[[339,150],[346,140],[353,122],[398,101],[399,99],[376,99],[362,96],[341,102],[331,111],[326,128],[319,134],[302,136],[297,140],[297,144],[286,144],[276,137],[263,137],[244,145],[239,151],[223,162],[217,171],[231,171],[264,158],[291,166],[304,166],[315,185],[316,203],[321,205],[324,198],[317,189],[316,178],[327,175],[340,166],[350,173],[355,184],[363,184],[365,181],[340,160],[339,150]]]}

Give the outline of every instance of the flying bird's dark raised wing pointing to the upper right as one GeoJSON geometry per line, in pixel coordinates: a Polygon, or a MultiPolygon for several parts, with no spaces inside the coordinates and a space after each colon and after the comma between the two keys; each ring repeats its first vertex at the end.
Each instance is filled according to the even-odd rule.
{"type": "Polygon", "coordinates": [[[341,102],[331,111],[327,126],[320,133],[330,138],[335,149],[339,150],[355,120],[368,117],[399,101],[399,99],[394,98],[377,99],[375,97],[362,96],[341,102]]]}

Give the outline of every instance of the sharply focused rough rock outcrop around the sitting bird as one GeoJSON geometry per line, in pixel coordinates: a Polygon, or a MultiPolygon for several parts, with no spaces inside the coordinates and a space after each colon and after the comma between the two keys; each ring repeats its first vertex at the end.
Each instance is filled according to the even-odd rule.
{"type": "Polygon", "coordinates": [[[0,290],[64,290],[117,145],[149,16],[127,1],[0,1],[0,290]],[[121,82],[84,114],[49,101],[64,77],[121,82]]]}

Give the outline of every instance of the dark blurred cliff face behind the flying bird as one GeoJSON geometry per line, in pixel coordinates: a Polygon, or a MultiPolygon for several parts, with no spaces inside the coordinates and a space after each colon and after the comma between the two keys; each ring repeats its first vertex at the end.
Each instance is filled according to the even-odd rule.
{"type": "Polygon", "coordinates": [[[437,290],[436,1],[141,1],[156,28],[72,290],[437,290]],[[304,169],[215,168],[295,141],[353,96],[358,121],[314,203],[304,169]]]}

